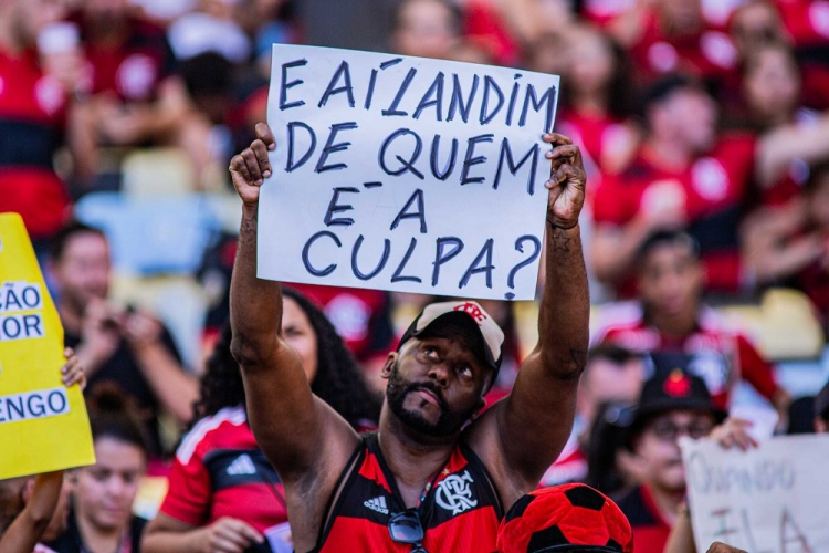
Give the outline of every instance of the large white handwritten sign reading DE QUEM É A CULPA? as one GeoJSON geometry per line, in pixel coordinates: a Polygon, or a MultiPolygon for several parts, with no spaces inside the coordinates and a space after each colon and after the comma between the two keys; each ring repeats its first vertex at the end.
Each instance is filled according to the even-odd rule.
{"type": "Polygon", "coordinates": [[[274,45],[260,278],[529,300],[559,80],[274,45]]]}

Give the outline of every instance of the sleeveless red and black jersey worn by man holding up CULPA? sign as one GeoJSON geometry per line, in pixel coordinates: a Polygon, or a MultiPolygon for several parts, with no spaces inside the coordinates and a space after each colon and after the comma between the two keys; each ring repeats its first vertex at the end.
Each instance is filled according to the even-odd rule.
{"type": "MultiPolygon", "coordinates": [[[[340,477],[338,499],[329,507],[315,553],[409,552],[395,543],[388,522],[406,510],[393,474],[380,451],[376,434],[366,434],[356,462],[340,477]]],[[[427,551],[495,551],[503,510],[489,471],[463,441],[455,446],[444,469],[418,507],[427,551]]]]}

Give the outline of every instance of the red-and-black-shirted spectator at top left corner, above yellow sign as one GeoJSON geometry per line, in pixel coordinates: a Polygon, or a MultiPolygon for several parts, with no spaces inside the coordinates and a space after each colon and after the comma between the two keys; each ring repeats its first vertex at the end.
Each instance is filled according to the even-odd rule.
{"type": "MultiPolygon", "coordinates": [[[[53,167],[63,144],[67,91],[56,73],[44,72],[36,41],[66,14],[59,0],[10,0],[0,3],[0,212],[22,216],[35,248],[51,238],[69,216],[70,198],[53,167]]],[[[57,32],[62,70],[80,69],[72,32],[57,32]],[[72,63],[72,59],[75,62],[72,63]],[[73,67],[75,65],[75,67],[73,67]]],[[[75,36],[75,41],[76,41],[75,36]]],[[[57,53],[57,52],[55,52],[57,53]]],[[[61,67],[52,67],[54,71],[61,67]]]]}

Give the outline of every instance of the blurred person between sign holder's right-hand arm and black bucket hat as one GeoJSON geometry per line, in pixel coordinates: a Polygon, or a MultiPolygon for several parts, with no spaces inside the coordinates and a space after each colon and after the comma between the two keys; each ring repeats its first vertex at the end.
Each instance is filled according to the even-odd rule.
{"type": "Polygon", "coordinates": [[[570,438],[556,462],[544,473],[542,486],[583,482],[588,473],[591,429],[602,404],[632,404],[644,380],[642,357],[615,344],[602,344],[587,354],[578,384],[576,419],[570,438]]]}

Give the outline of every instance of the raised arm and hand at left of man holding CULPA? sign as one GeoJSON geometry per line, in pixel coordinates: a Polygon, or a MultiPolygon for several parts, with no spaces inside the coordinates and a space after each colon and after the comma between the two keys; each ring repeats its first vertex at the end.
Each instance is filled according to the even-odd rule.
{"type": "Polygon", "coordinates": [[[230,288],[231,351],[242,368],[251,429],[284,481],[328,470],[318,465],[340,457],[345,465],[358,438],[312,394],[300,356],[281,335],[280,283],[256,278],[259,191],[271,176],[267,150],[276,147],[267,125],[256,125],[256,136],[230,165],[243,204],[230,288]]]}

